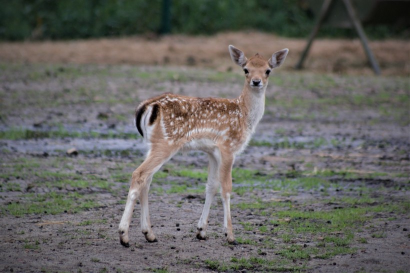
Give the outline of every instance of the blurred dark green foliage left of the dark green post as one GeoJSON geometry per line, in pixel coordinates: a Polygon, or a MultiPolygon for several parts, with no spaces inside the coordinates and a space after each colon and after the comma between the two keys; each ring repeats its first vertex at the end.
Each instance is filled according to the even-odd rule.
{"type": "Polygon", "coordinates": [[[161,0],[0,0],[0,38],[69,39],[155,31],[161,0]]]}

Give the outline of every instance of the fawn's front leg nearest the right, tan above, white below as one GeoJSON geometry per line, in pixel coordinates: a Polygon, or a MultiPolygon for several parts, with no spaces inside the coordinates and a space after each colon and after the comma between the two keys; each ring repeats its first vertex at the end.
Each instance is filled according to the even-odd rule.
{"type": "Polygon", "coordinates": [[[232,163],[233,156],[222,155],[220,168],[221,197],[223,204],[223,231],[229,243],[236,244],[233,236],[232,220],[230,217],[230,194],[232,192],[232,163]]]}

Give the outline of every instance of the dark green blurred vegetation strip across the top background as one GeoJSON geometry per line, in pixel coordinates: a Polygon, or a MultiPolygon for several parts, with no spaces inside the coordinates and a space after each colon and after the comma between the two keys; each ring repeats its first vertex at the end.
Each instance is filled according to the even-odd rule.
{"type": "MultiPolygon", "coordinates": [[[[158,33],[164,0],[0,0],[0,39],[72,39],[158,33]]],[[[170,32],[212,34],[257,29],[306,37],[315,18],[303,0],[173,0],[170,32]]],[[[405,27],[365,26],[370,38],[407,36],[405,27]]],[[[355,37],[324,27],[319,35],[355,37]]]]}

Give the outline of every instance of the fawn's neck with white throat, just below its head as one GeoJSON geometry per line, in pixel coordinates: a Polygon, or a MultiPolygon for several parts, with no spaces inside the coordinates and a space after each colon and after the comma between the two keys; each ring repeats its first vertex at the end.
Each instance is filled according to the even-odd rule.
{"type": "Polygon", "coordinates": [[[265,90],[266,87],[258,90],[252,90],[248,84],[245,83],[242,93],[239,96],[239,103],[244,107],[246,114],[246,121],[251,132],[254,131],[257,123],[262,118],[265,108],[265,90]]]}

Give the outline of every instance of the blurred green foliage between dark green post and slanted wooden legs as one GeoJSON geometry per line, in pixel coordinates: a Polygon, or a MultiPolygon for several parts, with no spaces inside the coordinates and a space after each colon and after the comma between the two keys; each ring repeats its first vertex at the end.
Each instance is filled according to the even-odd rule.
{"type": "Polygon", "coordinates": [[[298,0],[174,0],[173,31],[214,33],[258,29],[286,36],[304,36],[314,22],[298,0]]]}

